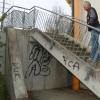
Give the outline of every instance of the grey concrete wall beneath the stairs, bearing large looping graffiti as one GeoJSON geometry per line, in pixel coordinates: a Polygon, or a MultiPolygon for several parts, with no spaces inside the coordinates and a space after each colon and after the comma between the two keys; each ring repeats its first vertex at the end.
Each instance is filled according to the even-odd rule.
{"type": "Polygon", "coordinates": [[[67,70],[52,57],[28,32],[17,30],[17,41],[28,90],[67,86],[67,70]]]}

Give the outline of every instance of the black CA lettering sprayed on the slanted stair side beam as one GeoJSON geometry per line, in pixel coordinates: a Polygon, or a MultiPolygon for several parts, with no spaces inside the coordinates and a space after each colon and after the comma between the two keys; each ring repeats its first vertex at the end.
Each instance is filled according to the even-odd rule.
{"type": "Polygon", "coordinates": [[[65,62],[65,65],[68,65],[68,67],[72,67],[73,70],[75,70],[77,68],[77,70],[79,70],[79,63],[78,62],[73,62],[73,61],[69,61],[67,59],[67,57],[63,56],[63,59],[64,59],[64,62],[65,62]]]}

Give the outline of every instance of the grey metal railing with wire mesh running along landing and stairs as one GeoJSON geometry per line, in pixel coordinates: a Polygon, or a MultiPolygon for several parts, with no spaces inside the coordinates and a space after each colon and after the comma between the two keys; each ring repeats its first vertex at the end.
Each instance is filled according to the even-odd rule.
{"type": "MultiPolygon", "coordinates": [[[[31,9],[13,6],[6,14],[4,27],[38,28],[42,32],[52,33],[54,40],[56,35],[69,36],[75,43],[81,44],[81,48],[90,48],[91,33],[87,31],[88,28],[100,32],[100,29],[87,25],[82,20],[37,6],[31,9]]],[[[63,42],[66,42],[66,38],[63,39],[63,42]]],[[[79,55],[81,55],[81,52],[79,55]]],[[[84,53],[85,55],[86,53],[84,53]]]]}

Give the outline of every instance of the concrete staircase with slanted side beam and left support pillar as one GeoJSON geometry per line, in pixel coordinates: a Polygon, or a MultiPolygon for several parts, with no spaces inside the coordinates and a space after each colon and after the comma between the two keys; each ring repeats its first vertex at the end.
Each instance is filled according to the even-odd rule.
{"type": "MultiPolygon", "coordinates": [[[[18,29],[18,28],[7,28],[8,35],[8,45],[11,59],[12,68],[14,68],[13,63],[19,64],[18,75],[23,77],[21,60],[19,57],[19,52],[17,50],[16,42],[16,32],[22,34],[25,33],[29,38],[34,38],[39,44],[41,44],[52,56],[54,56],[65,68],[67,68],[72,74],[74,74],[84,85],[86,85],[95,95],[100,98],[100,71],[96,70],[95,67],[91,66],[91,63],[87,61],[89,57],[89,52],[87,48],[82,47],[81,43],[77,43],[74,39],[69,36],[63,36],[58,34],[45,33],[39,29],[18,29]],[[13,37],[13,38],[12,38],[13,37]]],[[[8,52],[8,49],[6,49],[8,52]]],[[[7,54],[9,54],[7,53],[7,54]]],[[[6,59],[8,59],[7,56],[6,59]]],[[[7,60],[6,60],[7,61],[7,60]]],[[[9,65],[7,63],[7,65],[9,65]]],[[[17,65],[16,65],[17,67],[17,65]]],[[[8,68],[8,67],[7,67],[8,68]]],[[[9,72],[10,73],[10,72],[9,72]]],[[[14,72],[12,70],[11,77],[14,82],[14,93],[16,99],[20,100],[23,98],[27,100],[26,89],[24,85],[23,78],[19,78],[17,81],[14,78],[14,72]],[[16,81],[16,82],[15,82],[16,81]],[[19,87],[22,86],[24,91],[20,91],[19,87]],[[18,84],[17,84],[18,83],[18,84]],[[18,92],[19,91],[19,92],[18,92]],[[21,95],[24,94],[24,95],[21,95]],[[22,96],[22,97],[20,97],[22,96]]],[[[14,97],[12,97],[14,98],[14,97]]]]}

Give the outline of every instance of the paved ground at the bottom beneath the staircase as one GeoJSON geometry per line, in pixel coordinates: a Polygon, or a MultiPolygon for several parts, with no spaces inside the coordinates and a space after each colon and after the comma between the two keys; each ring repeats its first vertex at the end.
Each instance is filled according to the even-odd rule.
{"type": "Polygon", "coordinates": [[[33,92],[33,100],[100,100],[87,90],[54,89],[33,92]]]}

